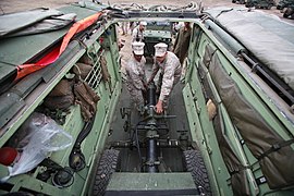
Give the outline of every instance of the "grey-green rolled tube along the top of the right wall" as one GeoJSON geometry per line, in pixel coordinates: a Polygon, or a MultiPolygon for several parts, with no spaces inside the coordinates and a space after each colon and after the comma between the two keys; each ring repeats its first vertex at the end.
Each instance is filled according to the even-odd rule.
{"type": "Polygon", "coordinates": [[[218,26],[215,22],[211,20],[206,20],[205,24],[208,26],[208,28],[219,38],[220,41],[230,48],[230,50],[235,54],[240,54],[241,52],[246,53],[246,49],[236,40],[234,39],[230,34],[228,34],[224,29],[222,29],[220,26],[218,26]]]}

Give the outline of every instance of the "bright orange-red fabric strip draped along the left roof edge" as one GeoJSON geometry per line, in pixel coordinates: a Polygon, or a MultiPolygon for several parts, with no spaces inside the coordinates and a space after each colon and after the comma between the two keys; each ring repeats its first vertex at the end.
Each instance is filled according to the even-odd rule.
{"type": "Polygon", "coordinates": [[[28,63],[28,64],[19,65],[17,66],[17,76],[16,76],[15,81],[53,63],[61,56],[61,53],[65,50],[65,48],[68,47],[72,37],[75,34],[86,29],[87,27],[93,25],[95,22],[97,22],[101,14],[102,14],[102,12],[98,12],[94,15],[90,15],[88,17],[85,17],[85,19],[74,23],[73,26],[66,33],[66,35],[63,37],[61,45],[56,47],[51,52],[47,53],[44,58],[41,58],[36,63],[28,63]]]}

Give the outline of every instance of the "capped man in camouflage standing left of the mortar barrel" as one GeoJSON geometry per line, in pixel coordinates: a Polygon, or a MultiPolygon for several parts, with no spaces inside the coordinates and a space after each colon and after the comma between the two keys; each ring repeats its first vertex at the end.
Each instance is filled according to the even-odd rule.
{"type": "Polygon", "coordinates": [[[146,91],[146,75],[144,58],[144,42],[133,42],[133,56],[131,57],[125,71],[126,71],[126,87],[131,95],[132,107],[140,109],[144,106],[144,96],[146,91]]]}

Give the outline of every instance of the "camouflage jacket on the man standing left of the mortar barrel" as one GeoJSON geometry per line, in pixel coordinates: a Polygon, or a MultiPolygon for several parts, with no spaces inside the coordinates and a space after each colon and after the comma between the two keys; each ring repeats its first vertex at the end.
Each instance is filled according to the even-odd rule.
{"type": "Polygon", "coordinates": [[[146,59],[142,57],[138,62],[134,56],[131,57],[125,71],[126,71],[126,86],[128,90],[145,89],[144,84],[147,84],[145,75],[146,59]]]}

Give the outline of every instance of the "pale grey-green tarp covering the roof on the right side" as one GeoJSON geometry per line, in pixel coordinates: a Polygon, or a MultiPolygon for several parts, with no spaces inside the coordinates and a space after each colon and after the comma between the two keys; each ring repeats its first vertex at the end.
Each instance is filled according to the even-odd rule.
{"type": "Polygon", "coordinates": [[[294,25],[244,8],[217,8],[206,13],[294,89],[294,25]]]}

